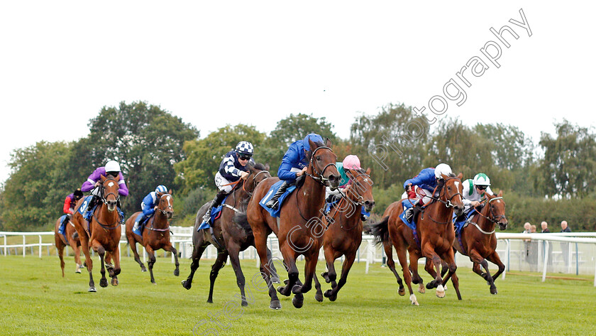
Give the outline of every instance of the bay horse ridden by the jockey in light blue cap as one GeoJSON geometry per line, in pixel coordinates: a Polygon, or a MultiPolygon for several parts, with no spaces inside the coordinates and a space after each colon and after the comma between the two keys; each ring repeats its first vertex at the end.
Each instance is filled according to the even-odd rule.
{"type": "Polygon", "coordinates": [[[131,217],[128,217],[128,220],[126,220],[125,231],[128,244],[131,246],[131,250],[133,250],[133,254],[135,255],[135,261],[138,262],[140,270],[143,272],[146,272],[147,269],[145,269],[143,261],[140,261],[136,250],[136,243],[145,247],[145,251],[147,251],[147,254],[149,255],[149,273],[151,276],[151,283],[153,284],[155,284],[155,278],[153,278],[153,265],[155,264],[155,251],[158,249],[172,252],[176,265],[174,275],[178,276],[180,274],[180,269],[178,269],[178,266],[180,266],[178,263],[178,252],[176,251],[176,248],[172,246],[172,242],[170,242],[170,220],[172,219],[172,215],[174,215],[172,190],[167,190],[167,193],[157,193],[156,197],[159,197],[158,209],[155,210],[153,216],[151,216],[145,224],[143,237],[140,237],[133,232],[135,220],[138,215],[140,215],[140,211],[135,212],[131,217]]]}

